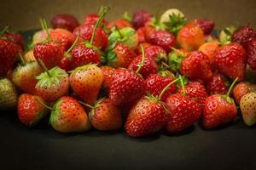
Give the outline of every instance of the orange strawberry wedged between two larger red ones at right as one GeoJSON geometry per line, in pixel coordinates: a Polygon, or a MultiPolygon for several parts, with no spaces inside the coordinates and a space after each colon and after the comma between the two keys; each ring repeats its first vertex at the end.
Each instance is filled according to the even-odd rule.
{"type": "Polygon", "coordinates": [[[215,62],[215,51],[218,49],[218,42],[213,41],[213,42],[206,42],[200,46],[198,49],[201,51],[203,54],[207,55],[207,58],[210,61],[210,64],[212,68],[214,67],[214,62],[215,62]]]}

